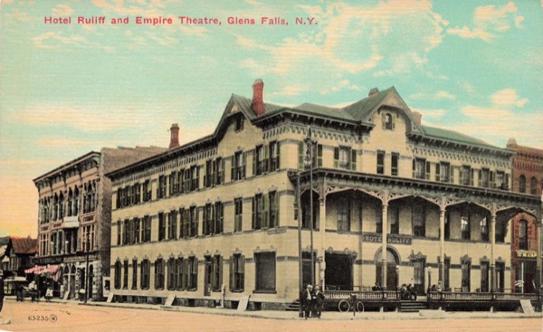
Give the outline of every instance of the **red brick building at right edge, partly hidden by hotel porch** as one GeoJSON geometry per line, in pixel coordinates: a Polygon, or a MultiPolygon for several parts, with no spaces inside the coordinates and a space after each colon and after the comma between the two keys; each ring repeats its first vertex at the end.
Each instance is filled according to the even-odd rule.
{"type": "MultiPolygon", "coordinates": [[[[541,197],[543,204],[543,150],[519,146],[514,138],[509,139],[507,147],[516,152],[511,169],[513,191],[541,197]]],[[[541,275],[541,257],[538,257],[541,223],[529,213],[519,213],[512,219],[511,229],[511,288],[518,292],[534,292],[537,276],[541,275]]]]}

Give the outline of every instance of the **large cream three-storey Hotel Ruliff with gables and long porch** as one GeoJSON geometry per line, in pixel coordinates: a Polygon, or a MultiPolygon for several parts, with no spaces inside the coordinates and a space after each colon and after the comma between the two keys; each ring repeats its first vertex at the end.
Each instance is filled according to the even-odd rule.
{"type": "Polygon", "coordinates": [[[510,191],[510,149],[422,126],[394,87],[341,109],[262,97],[255,81],[212,135],[107,175],[116,299],[285,308],[313,282],[508,289],[510,218],[540,223],[538,200],[510,191]]]}

